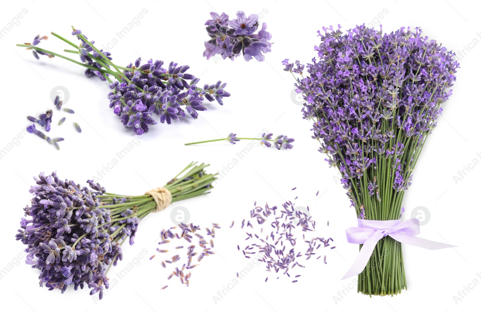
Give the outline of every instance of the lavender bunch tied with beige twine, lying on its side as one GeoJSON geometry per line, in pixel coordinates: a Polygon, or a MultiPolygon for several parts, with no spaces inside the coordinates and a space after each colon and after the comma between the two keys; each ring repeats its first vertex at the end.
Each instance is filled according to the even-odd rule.
{"type": "Polygon", "coordinates": [[[87,180],[90,188],[81,187],[55,172],[34,177],[35,196],[16,239],[27,245],[26,263],[41,271],[40,286],[63,293],[69,285],[77,290],[87,284],[90,295],[102,299],[108,270],[122,260],[122,244],[134,243],[140,220],[171,202],[209,193],[215,175],[205,173],[207,166],[192,162],[164,187],[139,196],[107,193],[93,180],[87,180]]]}

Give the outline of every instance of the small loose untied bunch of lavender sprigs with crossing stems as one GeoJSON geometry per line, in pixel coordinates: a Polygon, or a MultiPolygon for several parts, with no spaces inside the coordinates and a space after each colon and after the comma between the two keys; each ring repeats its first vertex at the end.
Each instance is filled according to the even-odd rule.
{"type": "Polygon", "coordinates": [[[52,32],[51,34],[75,50],[65,52],[78,54],[80,61],[72,60],[64,55],[39,48],[37,45],[47,36],[36,36],[32,43],[17,44],[32,50],[36,59],[38,54],[53,58],[55,56],[74,62],[86,68],[85,75],[99,77],[110,83],[113,92],[107,95],[109,107],[114,109],[114,114],[120,117],[120,122],[132,127],[136,135],[142,135],[149,131],[149,125],[157,122],[152,119],[152,114],[159,115],[161,123],[170,125],[172,121],[179,121],[186,117],[186,112],[194,119],[198,117],[198,111],[206,111],[203,101],[216,100],[223,105],[222,99],[229,97],[230,93],[224,90],[226,84],[218,81],[215,84],[205,84],[197,87],[199,78],[186,73],[189,65],[180,66],[170,62],[164,66],[163,61],[149,60],[140,65],[140,58],[134,64],[127,66],[115,65],[112,62],[111,53],[99,50],[94,46],[95,41],[89,41],[80,29],[73,26],[72,35],[80,40],[80,45],[52,32]],[[113,82],[111,77],[117,81],[113,82]],[[190,80],[190,82],[188,82],[190,80]],[[185,111],[184,111],[185,109],[185,111]]]}

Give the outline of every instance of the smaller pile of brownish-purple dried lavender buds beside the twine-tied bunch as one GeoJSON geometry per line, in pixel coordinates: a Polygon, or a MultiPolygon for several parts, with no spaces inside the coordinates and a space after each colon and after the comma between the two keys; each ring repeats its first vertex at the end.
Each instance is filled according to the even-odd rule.
{"type": "MultiPolygon", "coordinates": [[[[164,245],[171,242],[170,239],[172,240],[185,239],[188,243],[192,243],[193,240],[196,240],[197,241],[196,244],[202,249],[202,251],[196,252],[195,248],[197,246],[195,244],[192,244],[188,247],[184,247],[182,245],[176,246],[175,247],[176,250],[185,249],[187,251],[186,256],[184,257],[184,256],[180,256],[180,254],[176,254],[172,257],[167,257],[162,261],[162,267],[164,268],[167,268],[167,266],[171,267],[173,266],[172,263],[177,262],[181,259],[187,259],[187,262],[182,264],[182,266],[180,265],[177,266],[175,270],[173,270],[172,273],[167,277],[168,280],[170,280],[175,275],[176,277],[179,278],[180,283],[185,284],[187,287],[189,287],[190,276],[192,275],[192,272],[188,270],[191,270],[195,268],[197,265],[199,265],[199,264],[192,264],[192,258],[194,258],[195,256],[198,255],[198,253],[200,253],[199,256],[194,258],[194,260],[197,260],[197,263],[198,263],[198,262],[201,262],[205,256],[215,254],[215,252],[212,251],[212,249],[214,248],[214,240],[212,238],[215,237],[215,229],[220,228],[220,226],[217,223],[213,223],[212,229],[209,229],[208,227],[205,228],[205,232],[207,233],[206,237],[207,236],[212,237],[210,239],[208,238],[206,239],[203,235],[196,233],[198,230],[200,232],[200,228],[201,227],[199,225],[193,225],[192,223],[189,225],[180,223],[177,226],[172,226],[167,230],[163,229],[160,232],[161,241],[159,242],[159,245],[162,245],[162,248],[165,248],[164,245]],[[173,229],[177,229],[177,228],[181,230],[180,234],[174,233],[172,231],[173,229]],[[188,271],[188,272],[185,272],[185,271],[188,271]]],[[[160,253],[167,253],[169,250],[157,248],[157,251],[160,253]]],[[[150,260],[152,260],[154,257],[155,255],[153,255],[150,258],[150,260]]],[[[165,288],[167,288],[167,286],[164,286],[161,289],[165,289],[165,288]]]]}

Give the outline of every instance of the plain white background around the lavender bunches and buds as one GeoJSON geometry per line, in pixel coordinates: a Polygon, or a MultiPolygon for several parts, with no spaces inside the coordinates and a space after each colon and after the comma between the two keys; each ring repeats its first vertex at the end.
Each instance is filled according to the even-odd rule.
{"type": "MultiPolygon", "coordinates": [[[[479,7],[472,1],[282,1],[256,0],[229,2],[208,1],[9,1],[0,12],[0,28],[14,24],[0,40],[2,53],[1,86],[3,87],[0,149],[2,246],[0,253],[0,293],[2,306],[9,311],[95,311],[95,309],[142,311],[473,311],[479,309],[481,267],[479,252],[479,193],[481,161],[479,140],[479,73],[481,23],[479,7]],[[181,4],[180,4],[181,3],[181,4]],[[28,12],[19,20],[12,19],[25,8],[28,12]],[[37,34],[57,32],[67,38],[70,25],[81,29],[97,47],[106,47],[116,32],[127,26],[145,8],[148,13],[137,25],[109,49],[114,62],[127,65],[139,56],[179,64],[189,64],[189,73],[201,76],[201,83],[228,83],[232,93],[224,106],[208,104],[209,111],[200,112],[197,120],[185,118],[174,125],[151,127],[139,140],[131,129],[124,128],[108,107],[108,84],[88,79],[83,69],[60,58],[40,61],[30,51],[15,47],[16,43],[31,42],[37,34]],[[272,52],[266,62],[235,62],[203,58],[203,42],[208,39],[203,23],[209,12],[226,12],[232,18],[237,10],[247,14],[266,12],[266,22],[272,33],[272,52]],[[384,13],[382,13],[384,11],[384,13]],[[386,13],[387,11],[387,13],[386,13]],[[381,13],[381,14],[380,14],[381,13]],[[381,16],[381,18],[378,16],[381,16]],[[292,98],[292,76],[282,71],[281,61],[290,58],[308,62],[316,56],[319,44],[316,31],[322,26],[341,24],[344,30],[360,23],[382,23],[385,32],[400,26],[420,26],[424,34],[455,51],[468,47],[463,54],[454,95],[444,105],[438,128],[428,140],[412,187],[407,191],[404,219],[430,214],[429,222],[421,227],[421,237],[458,245],[456,249],[425,250],[403,246],[408,291],[396,297],[370,299],[354,290],[342,297],[338,291],[353,287],[352,279],[341,281],[353,263],[358,247],[348,244],[344,230],[355,225],[355,214],[339,183],[337,172],[324,162],[318,143],[311,139],[310,124],[302,119],[299,99],[292,98]],[[476,39],[475,39],[476,38],[476,39]],[[474,43],[476,44],[474,44],[474,43]],[[49,99],[52,88],[65,87],[70,100],[64,107],[76,114],[53,112],[52,137],[62,136],[61,150],[30,134],[16,140],[29,124],[26,115],[38,116],[54,109],[49,99]],[[61,117],[67,120],[57,126],[61,117]],[[72,123],[83,131],[76,133],[72,123]],[[225,137],[229,132],[241,137],[257,136],[266,129],[274,135],[294,137],[293,150],[275,150],[256,146],[239,159],[236,153],[249,142],[236,145],[215,142],[199,146],[184,143],[225,137]],[[12,143],[12,144],[10,144],[12,143]],[[128,155],[110,166],[116,152],[133,144],[128,155]],[[477,154],[480,152],[480,154],[477,154]],[[239,163],[232,166],[233,159],[239,163]],[[29,204],[32,176],[39,172],[57,171],[84,183],[103,166],[111,169],[99,182],[111,192],[143,194],[164,185],[190,161],[211,163],[209,170],[232,169],[216,183],[211,194],[200,199],[172,204],[164,212],[149,215],[140,223],[133,246],[124,247],[124,260],[111,270],[111,283],[116,273],[129,264],[134,268],[117,279],[117,285],[96,302],[89,290],[68,289],[48,291],[38,287],[38,270],[25,262],[24,246],[14,240],[19,228],[22,208],[29,204]],[[470,164],[471,163],[471,164],[470,164]],[[470,166],[462,179],[458,171],[470,166]],[[291,188],[297,187],[295,191],[291,188]],[[319,190],[319,196],[316,192],[319,190]],[[239,284],[216,303],[213,296],[235,278],[248,259],[236,245],[245,238],[240,221],[249,217],[257,200],[280,205],[295,200],[296,205],[311,208],[317,231],[332,237],[337,249],[321,250],[328,264],[315,258],[304,263],[303,276],[292,284],[285,275],[266,272],[256,267],[239,284]],[[215,238],[216,255],[205,258],[192,270],[189,288],[177,280],[166,281],[169,274],[155,254],[156,237],[162,228],[173,225],[170,213],[183,206],[190,212],[190,222],[203,227],[217,222],[223,225],[215,238]],[[236,220],[233,230],[228,228],[236,220]],[[326,225],[329,220],[329,227],[326,225]],[[138,254],[147,253],[142,259],[138,254]],[[477,274],[480,275],[477,275],[477,274]],[[265,278],[269,276],[267,283],[265,278]],[[275,278],[280,276],[278,280],[275,278]],[[474,283],[474,284],[470,284],[474,283]],[[165,290],[160,287],[169,285],[165,290]],[[471,287],[461,298],[458,291],[471,287]],[[338,299],[335,300],[334,296],[338,299]],[[455,301],[454,296],[459,299],[455,301]]],[[[118,38],[118,37],[117,37],[118,38]]],[[[50,36],[40,47],[54,51],[69,49],[59,39],[50,36]]],[[[76,55],[71,56],[77,59],[76,55]]],[[[461,59],[461,57],[460,57],[461,59]]],[[[301,102],[302,103],[302,102],[301,102]]],[[[317,235],[316,235],[317,236],[317,235]]],[[[172,249],[172,246],[170,246],[172,249]]],[[[302,250],[304,251],[304,250],[302,250]]]]}

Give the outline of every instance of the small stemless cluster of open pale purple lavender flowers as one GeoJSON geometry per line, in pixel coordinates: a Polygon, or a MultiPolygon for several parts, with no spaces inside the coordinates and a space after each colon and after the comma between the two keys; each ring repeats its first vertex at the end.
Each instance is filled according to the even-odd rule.
{"type": "Polygon", "coordinates": [[[211,40],[205,41],[204,56],[210,59],[215,54],[220,54],[225,60],[226,58],[234,61],[239,55],[243,55],[245,61],[250,61],[252,58],[259,62],[264,61],[265,56],[262,53],[270,52],[271,43],[267,40],[272,38],[272,35],[266,31],[267,24],[262,23],[262,28],[257,34],[259,27],[259,16],[251,14],[246,17],[245,13],[238,11],[237,19],[228,21],[229,16],[222,12],[217,14],[211,12],[212,19],[207,20],[204,25],[207,25],[207,33],[211,40]]]}

